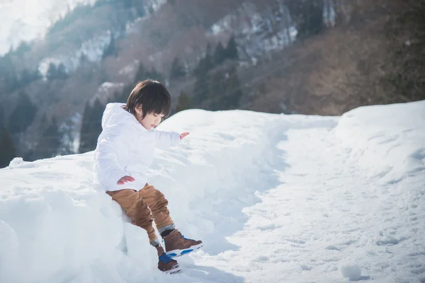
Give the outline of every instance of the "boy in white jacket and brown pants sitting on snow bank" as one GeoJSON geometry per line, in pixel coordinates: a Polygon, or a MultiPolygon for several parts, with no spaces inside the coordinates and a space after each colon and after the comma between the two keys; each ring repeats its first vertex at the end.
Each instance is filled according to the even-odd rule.
{"type": "Polygon", "coordinates": [[[109,103],[102,117],[102,132],[95,150],[96,178],[112,200],[118,202],[132,224],[147,231],[149,243],[157,248],[158,268],[178,272],[174,256],[190,253],[202,241],[184,238],[171,220],[168,201],[162,192],[147,184],[146,169],[153,160],[154,148],[176,146],[189,133],[154,129],[171,112],[171,96],[158,81],[146,80],[135,86],[127,104],[109,103]],[[159,243],[152,217],[164,239],[159,243]]]}

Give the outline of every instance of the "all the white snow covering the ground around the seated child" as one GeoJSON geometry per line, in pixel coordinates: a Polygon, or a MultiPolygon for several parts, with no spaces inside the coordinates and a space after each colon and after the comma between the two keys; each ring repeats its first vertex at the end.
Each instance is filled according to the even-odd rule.
{"type": "Polygon", "coordinates": [[[157,270],[144,230],[93,185],[93,153],[0,170],[0,282],[425,282],[425,101],[341,117],[186,110],[149,183],[183,235],[157,270]]]}

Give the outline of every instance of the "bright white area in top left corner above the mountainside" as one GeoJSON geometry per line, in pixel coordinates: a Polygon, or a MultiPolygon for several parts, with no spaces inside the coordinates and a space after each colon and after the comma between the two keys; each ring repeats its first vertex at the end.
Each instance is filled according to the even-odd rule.
{"type": "Polygon", "coordinates": [[[47,28],[77,4],[96,0],[0,0],[0,56],[22,40],[43,37],[47,28]]]}

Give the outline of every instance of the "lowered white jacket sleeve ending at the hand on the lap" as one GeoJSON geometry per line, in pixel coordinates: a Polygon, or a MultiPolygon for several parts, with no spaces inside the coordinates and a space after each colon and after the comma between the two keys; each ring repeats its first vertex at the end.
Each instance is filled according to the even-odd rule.
{"type": "MultiPolygon", "coordinates": [[[[107,187],[117,187],[120,178],[128,175],[124,168],[118,163],[118,152],[128,147],[128,129],[118,131],[116,134],[108,134],[99,142],[95,151],[95,162],[98,178],[107,187]]],[[[124,153],[121,153],[124,154],[124,153]]]]}

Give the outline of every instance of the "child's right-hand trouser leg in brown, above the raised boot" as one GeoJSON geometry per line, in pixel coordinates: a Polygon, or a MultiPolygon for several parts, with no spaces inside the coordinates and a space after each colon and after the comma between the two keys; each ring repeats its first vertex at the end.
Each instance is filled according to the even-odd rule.
{"type": "Polygon", "coordinates": [[[138,193],[151,210],[159,233],[175,228],[169,209],[166,207],[168,200],[166,200],[162,192],[155,189],[152,185],[146,185],[138,193]]]}

